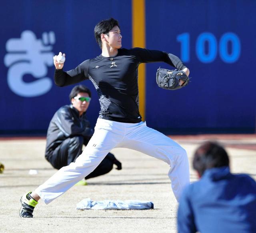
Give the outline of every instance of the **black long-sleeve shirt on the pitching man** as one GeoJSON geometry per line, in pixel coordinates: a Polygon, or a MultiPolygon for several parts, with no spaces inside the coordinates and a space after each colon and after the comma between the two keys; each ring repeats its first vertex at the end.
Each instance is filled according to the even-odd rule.
{"type": "Polygon", "coordinates": [[[113,57],[102,55],[86,60],[73,70],[55,70],[57,86],[91,80],[100,101],[99,118],[118,122],[141,121],[138,102],[138,66],[141,63],[165,62],[178,70],[186,66],[173,54],[142,48],[118,49],[113,57]]]}

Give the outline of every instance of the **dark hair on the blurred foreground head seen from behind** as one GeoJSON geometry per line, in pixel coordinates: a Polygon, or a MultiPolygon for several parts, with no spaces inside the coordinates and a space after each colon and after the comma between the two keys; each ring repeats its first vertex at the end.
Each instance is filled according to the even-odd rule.
{"type": "Polygon", "coordinates": [[[202,176],[204,171],[213,167],[229,166],[226,150],[216,142],[206,141],[194,153],[193,168],[202,176]]]}

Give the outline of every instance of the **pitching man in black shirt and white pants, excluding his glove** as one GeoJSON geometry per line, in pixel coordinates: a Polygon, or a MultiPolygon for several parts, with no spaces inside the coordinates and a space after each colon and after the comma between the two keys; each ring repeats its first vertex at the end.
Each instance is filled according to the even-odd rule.
{"type": "MultiPolygon", "coordinates": [[[[100,114],[86,149],[74,163],[62,167],[50,179],[21,198],[21,217],[33,217],[39,199],[48,204],[91,173],[115,147],[125,147],[168,163],[168,176],[176,199],[189,183],[188,157],[185,149],[164,134],[147,127],[141,120],[138,104],[138,66],[140,63],[165,62],[188,76],[189,70],[173,54],[142,48],[125,49],[117,20],[99,22],[94,35],[102,53],[82,62],[73,70],[56,67],[57,86],[90,80],[98,92],[100,114]]],[[[182,85],[182,84],[181,84],[182,85]]]]}

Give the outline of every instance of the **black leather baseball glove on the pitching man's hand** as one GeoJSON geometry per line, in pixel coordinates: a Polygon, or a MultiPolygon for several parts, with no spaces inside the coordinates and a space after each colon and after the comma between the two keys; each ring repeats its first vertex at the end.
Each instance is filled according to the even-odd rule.
{"type": "Polygon", "coordinates": [[[156,83],[160,88],[167,90],[177,90],[188,85],[190,78],[186,76],[182,70],[167,70],[159,68],[156,72],[156,83]],[[179,80],[183,80],[182,86],[179,85],[179,80]]]}

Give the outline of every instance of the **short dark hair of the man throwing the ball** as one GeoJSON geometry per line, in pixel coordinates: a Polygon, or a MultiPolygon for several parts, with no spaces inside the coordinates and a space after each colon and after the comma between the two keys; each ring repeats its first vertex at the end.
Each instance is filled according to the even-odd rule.
{"type": "Polygon", "coordinates": [[[120,28],[118,21],[115,20],[114,18],[109,18],[107,20],[102,20],[100,21],[94,28],[94,36],[95,39],[97,41],[97,43],[99,44],[100,48],[102,48],[102,42],[101,42],[101,38],[100,35],[101,34],[107,34],[108,32],[114,28],[114,26],[118,26],[118,28],[120,28]]]}

